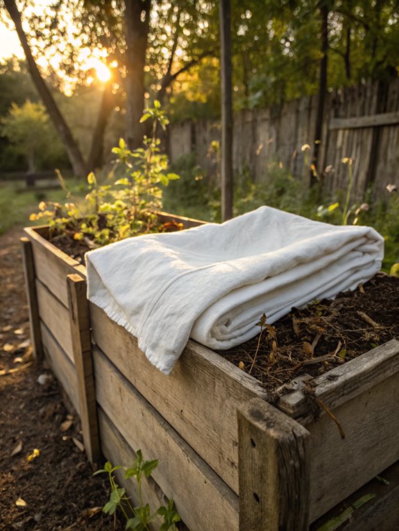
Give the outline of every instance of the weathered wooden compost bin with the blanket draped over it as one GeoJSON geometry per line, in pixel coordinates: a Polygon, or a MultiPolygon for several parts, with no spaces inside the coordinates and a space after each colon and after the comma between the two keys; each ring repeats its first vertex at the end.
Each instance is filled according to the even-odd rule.
{"type": "Polygon", "coordinates": [[[85,267],[46,241],[48,229],[25,233],[33,346],[79,412],[88,457],[159,458],[146,501],[173,498],[189,530],[308,529],[399,459],[398,341],[311,379],[312,401],[298,378],[271,406],[255,378],[192,340],[165,376],[87,304],[85,267]],[[344,438],[323,410],[314,420],[315,400],[344,438]]]}

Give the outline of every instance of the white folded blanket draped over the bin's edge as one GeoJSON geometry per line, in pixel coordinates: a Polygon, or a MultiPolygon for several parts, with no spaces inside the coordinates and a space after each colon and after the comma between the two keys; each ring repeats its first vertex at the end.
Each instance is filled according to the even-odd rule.
{"type": "Polygon", "coordinates": [[[88,298],[137,336],[169,374],[188,338],[228,349],[313,299],[355,289],[380,270],[371,227],[337,227],[270,207],[221,225],[149,234],[86,254],[88,298]]]}

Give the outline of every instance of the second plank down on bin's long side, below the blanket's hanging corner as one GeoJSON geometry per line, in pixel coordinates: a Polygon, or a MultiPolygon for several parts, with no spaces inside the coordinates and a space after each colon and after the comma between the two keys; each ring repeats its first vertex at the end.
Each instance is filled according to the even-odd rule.
{"type": "Polygon", "coordinates": [[[99,405],[130,447],[160,460],[153,478],[189,529],[238,530],[237,496],[96,347],[93,358],[99,405]]]}

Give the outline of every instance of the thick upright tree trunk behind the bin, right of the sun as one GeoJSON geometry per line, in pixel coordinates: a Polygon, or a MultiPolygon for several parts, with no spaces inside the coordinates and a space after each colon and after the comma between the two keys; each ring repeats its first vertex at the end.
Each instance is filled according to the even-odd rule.
{"type": "Polygon", "coordinates": [[[126,0],[126,142],[130,149],[142,145],[140,122],[144,108],[144,66],[151,0],[126,0]]]}

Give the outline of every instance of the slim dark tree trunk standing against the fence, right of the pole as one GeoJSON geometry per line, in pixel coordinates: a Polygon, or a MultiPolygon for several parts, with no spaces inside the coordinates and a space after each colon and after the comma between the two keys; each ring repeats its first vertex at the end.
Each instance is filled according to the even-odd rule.
{"type": "Polygon", "coordinates": [[[321,145],[321,135],[323,129],[323,114],[325,104],[325,93],[327,92],[327,58],[328,58],[328,7],[321,6],[321,63],[319,74],[319,105],[317,106],[316,127],[314,130],[314,150],[312,156],[312,170],[310,173],[310,183],[314,184],[314,171],[319,164],[319,151],[321,145]]]}

